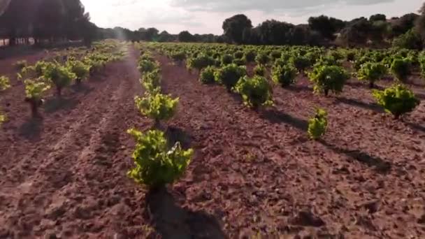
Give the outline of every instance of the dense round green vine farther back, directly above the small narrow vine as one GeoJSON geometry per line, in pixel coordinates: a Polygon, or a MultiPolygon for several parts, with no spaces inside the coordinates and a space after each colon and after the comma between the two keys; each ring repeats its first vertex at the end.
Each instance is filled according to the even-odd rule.
{"type": "Polygon", "coordinates": [[[340,66],[316,66],[308,77],[315,83],[315,93],[324,92],[328,96],[329,90],[334,94],[342,92],[349,75],[340,66]]]}

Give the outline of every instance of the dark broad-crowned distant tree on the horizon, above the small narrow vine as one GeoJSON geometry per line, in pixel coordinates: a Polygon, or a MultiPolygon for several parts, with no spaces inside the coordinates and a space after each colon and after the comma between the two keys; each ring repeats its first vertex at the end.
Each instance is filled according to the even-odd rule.
{"type": "Polygon", "coordinates": [[[343,29],[345,23],[343,20],[320,15],[319,17],[310,17],[308,19],[308,25],[310,29],[319,31],[324,38],[333,40],[335,39],[334,34],[340,29],[343,29]]]}

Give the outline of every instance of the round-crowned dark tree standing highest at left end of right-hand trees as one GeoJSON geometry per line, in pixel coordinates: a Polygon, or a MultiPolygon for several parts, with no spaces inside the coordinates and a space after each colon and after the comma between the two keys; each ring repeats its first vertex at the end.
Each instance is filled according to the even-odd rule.
{"type": "Polygon", "coordinates": [[[224,36],[233,43],[243,43],[243,31],[252,28],[251,20],[243,15],[238,14],[224,20],[222,28],[224,36]]]}

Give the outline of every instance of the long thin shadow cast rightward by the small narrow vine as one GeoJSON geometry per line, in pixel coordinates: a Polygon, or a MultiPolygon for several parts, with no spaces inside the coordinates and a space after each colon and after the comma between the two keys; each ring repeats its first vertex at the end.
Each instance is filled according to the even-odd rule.
{"type": "Polygon", "coordinates": [[[338,154],[345,154],[347,157],[350,157],[351,159],[359,161],[361,164],[365,164],[366,166],[373,168],[373,170],[377,173],[386,174],[391,171],[391,164],[379,157],[374,157],[360,150],[348,150],[336,145],[331,145],[330,143],[326,143],[324,140],[319,140],[319,142],[328,147],[333,152],[338,154]]]}

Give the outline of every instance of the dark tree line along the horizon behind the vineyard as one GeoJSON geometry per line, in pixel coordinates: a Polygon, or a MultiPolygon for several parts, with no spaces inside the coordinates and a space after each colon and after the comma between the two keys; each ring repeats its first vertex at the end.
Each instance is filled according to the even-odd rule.
{"type": "Polygon", "coordinates": [[[9,45],[52,43],[64,40],[120,38],[127,41],[236,43],[251,45],[342,45],[422,49],[425,46],[425,3],[418,13],[387,18],[383,14],[343,21],[320,15],[306,24],[266,20],[257,27],[243,14],[224,20],[224,34],[169,34],[154,27],[135,31],[103,29],[90,22],[80,0],[0,1],[0,38],[9,45]],[[2,5],[3,3],[3,5],[2,5]],[[25,13],[25,14],[22,14],[25,13]]]}

